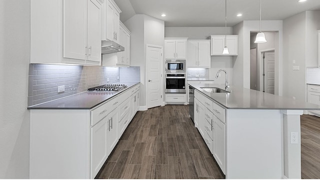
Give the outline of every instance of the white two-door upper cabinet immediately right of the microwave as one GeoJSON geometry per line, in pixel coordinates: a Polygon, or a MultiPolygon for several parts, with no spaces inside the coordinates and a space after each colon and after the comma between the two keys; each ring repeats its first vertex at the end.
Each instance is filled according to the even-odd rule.
{"type": "Polygon", "coordinates": [[[187,40],[187,67],[210,68],[210,40],[187,40]]]}

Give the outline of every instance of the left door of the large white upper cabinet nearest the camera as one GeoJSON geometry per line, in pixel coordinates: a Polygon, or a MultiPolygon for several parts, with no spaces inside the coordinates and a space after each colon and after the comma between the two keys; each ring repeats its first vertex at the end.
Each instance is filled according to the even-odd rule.
{"type": "Polygon", "coordinates": [[[87,0],[63,0],[63,57],[85,60],[87,0]]]}

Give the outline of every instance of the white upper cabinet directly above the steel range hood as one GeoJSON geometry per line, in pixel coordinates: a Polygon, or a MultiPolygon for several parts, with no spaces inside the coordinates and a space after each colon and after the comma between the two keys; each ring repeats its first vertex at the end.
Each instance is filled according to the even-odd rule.
{"type": "Polygon", "coordinates": [[[120,43],[120,12],[113,0],[105,0],[102,7],[102,40],[113,40],[120,43]]]}

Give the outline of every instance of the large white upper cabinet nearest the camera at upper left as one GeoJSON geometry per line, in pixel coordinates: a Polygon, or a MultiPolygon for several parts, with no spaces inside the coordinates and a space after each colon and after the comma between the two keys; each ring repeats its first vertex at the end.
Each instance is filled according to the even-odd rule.
{"type": "Polygon", "coordinates": [[[31,0],[30,63],[101,63],[103,0],[31,0]]]}

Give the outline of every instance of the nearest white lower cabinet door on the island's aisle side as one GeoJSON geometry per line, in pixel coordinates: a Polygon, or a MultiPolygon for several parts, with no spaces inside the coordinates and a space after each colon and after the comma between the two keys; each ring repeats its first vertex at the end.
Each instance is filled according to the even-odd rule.
{"type": "Polygon", "coordinates": [[[225,172],[225,124],[218,118],[214,118],[214,149],[213,156],[221,170],[225,172]]]}

